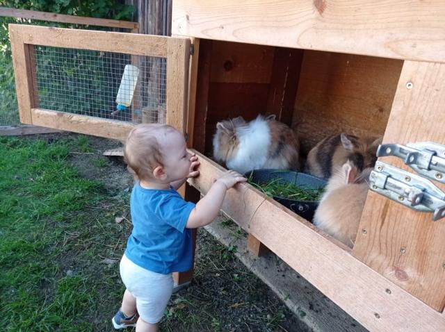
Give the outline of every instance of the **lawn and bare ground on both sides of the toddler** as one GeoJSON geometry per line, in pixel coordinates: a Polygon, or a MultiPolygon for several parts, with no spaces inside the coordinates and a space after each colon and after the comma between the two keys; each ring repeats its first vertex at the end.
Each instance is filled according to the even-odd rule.
{"type": "MultiPolygon", "coordinates": [[[[119,182],[124,165],[104,158],[100,142],[83,135],[0,138],[2,331],[114,331],[131,188],[119,182]]],[[[161,331],[301,331],[234,258],[236,248],[205,231],[198,238],[195,279],[172,297],[161,331]]]]}

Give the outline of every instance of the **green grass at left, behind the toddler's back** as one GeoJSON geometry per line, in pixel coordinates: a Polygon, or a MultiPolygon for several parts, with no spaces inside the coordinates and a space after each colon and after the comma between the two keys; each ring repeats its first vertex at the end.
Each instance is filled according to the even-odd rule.
{"type": "Polygon", "coordinates": [[[88,138],[0,138],[2,331],[97,331],[97,311],[119,306],[117,268],[100,261],[122,254],[113,215],[126,199],[81,178],[70,149],[88,150],[88,138]]]}

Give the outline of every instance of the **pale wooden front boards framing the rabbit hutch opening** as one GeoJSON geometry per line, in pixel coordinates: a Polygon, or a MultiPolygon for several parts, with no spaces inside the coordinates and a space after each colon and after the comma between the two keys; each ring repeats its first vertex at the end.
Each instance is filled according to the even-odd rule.
{"type": "MultiPolygon", "coordinates": [[[[445,6],[440,1],[410,3],[409,7],[389,0],[371,5],[364,0],[205,4],[181,0],[174,5],[172,32],[205,38],[200,42],[209,50],[212,41],[221,40],[405,60],[384,141],[444,140],[439,128],[445,128],[445,120],[439,108],[444,103],[445,40],[437,36],[445,33],[445,6]],[[414,89],[407,90],[408,82],[414,83],[414,89]],[[425,123],[419,119],[419,110],[425,123]]],[[[209,51],[203,55],[197,60],[197,86],[208,89],[211,59],[209,51]]],[[[391,71],[397,72],[398,66],[392,63],[391,71]]],[[[203,111],[209,103],[206,98],[207,93],[199,94],[195,109],[190,110],[196,113],[189,117],[195,118],[197,138],[206,135],[200,131],[207,118],[203,111]]],[[[196,140],[193,147],[204,151],[202,140],[196,140]]],[[[202,176],[191,183],[205,193],[221,168],[200,158],[202,176]]],[[[401,167],[401,163],[393,164],[401,167]]],[[[439,186],[445,190],[445,185],[439,186]]],[[[248,185],[241,187],[244,190],[248,185]]],[[[415,213],[371,193],[359,227],[369,236],[357,236],[351,251],[252,192],[252,188],[242,195],[232,191],[223,210],[252,235],[249,240],[255,252],[264,243],[372,331],[445,330],[443,222],[432,224],[429,214],[415,213]],[[412,244],[410,252],[398,256],[407,242],[412,244]]]]}

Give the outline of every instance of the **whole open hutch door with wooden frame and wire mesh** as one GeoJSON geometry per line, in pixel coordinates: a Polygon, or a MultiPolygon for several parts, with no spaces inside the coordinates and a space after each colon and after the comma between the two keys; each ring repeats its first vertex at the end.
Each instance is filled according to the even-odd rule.
{"type": "Polygon", "coordinates": [[[124,139],[139,123],[185,131],[190,42],[10,25],[20,120],[124,139]]]}

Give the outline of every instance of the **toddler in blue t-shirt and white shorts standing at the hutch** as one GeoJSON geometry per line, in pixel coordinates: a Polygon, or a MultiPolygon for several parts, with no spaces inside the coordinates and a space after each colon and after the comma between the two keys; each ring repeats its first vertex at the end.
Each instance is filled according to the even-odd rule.
{"type": "Polygon", "coordinates": [[[196,205],[177,193],[187,178],[199,175],[197,156],[188,153],[183,135],[164,124],[140,124],[127,138],[124,156],[135,177],[130,210],[133,231],[120,262],[127,290],[112,319],[115,329],[158,331],[172,295],[172,272],[191,268],[191,229],[210,224],[225,192],[246,179],[226,172],[196,205]]]}

